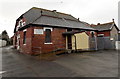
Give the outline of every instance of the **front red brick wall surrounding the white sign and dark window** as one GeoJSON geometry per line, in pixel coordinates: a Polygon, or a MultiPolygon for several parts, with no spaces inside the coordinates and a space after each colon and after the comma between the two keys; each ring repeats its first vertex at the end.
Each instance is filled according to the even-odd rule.
{"type": "MultiPolygon", "coordinates": [[[[44,27],[33,27],[34,29],[43,29],[44,27]]],[[[65,37],[62,35],[66,29],[62,28],[53,28],[51,32],[51,41],[52,44],[45,44],[45,31],[43,34],[33,34],[32,36],[32,49],[33,53],[35,51],[39,51],[38,53],[48,53],[58,48],[65,48],[66,47],[66,40],[65,37]]],[[[34,31],[33,31],[34,33],[34,31]]]]}

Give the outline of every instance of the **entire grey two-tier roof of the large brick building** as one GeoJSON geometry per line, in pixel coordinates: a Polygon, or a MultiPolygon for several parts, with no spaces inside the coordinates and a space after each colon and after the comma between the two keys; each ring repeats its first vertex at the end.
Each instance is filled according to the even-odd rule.
{"type": "Polygon", "coordinates": [[[94,30],[70,14],[33,7],[22,15],[26,24],[49,25],[68,28],[79,28],[94,30]]]}

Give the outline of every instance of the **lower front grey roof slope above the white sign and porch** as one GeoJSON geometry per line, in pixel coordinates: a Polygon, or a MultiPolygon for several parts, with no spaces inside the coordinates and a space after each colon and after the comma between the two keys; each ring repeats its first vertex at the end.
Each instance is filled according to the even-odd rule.
{"type": "Polygon", "coordinates": [[[51,25],[51,26],[58,26],[58,27],[81,28],[81,29],[92,29],[91,27],[88,27],[82,22],[66,20],[64,18],[60,19],[60,18],[47,17],[47,16],[41,16],[39,19],[33,22],[33,24],[51,25]]]}

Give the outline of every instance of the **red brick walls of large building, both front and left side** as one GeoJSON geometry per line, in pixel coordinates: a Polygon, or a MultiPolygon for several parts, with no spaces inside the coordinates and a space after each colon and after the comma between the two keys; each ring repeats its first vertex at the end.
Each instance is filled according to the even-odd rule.
{"type": "Polygon", "coordinates": [[[48,53],[55,49],[66,48],[66,39],[62,35],[66,32],[64,28],[53,28],[51,32],[52,44],[45,44],[45,31],[43,34],[34,34],[34,29],[44,29],[44,27],[29,27],[26,30],[26,44],[23,44],[23,30],[14,35],[14,46],[17,48],[17,36],[20,35],[20,52],[27,54],[48,53]],[[37,52],[36,52],[37,51],[37,52]]]}

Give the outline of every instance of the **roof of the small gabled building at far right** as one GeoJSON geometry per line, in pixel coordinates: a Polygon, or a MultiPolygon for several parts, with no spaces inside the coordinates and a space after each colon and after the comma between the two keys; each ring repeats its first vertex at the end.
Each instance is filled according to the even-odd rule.
{"type": "Polygon", "coordinates": [[[112,30],[113,26],[115,26],[117,28],[117,30],[119,30],[114,22],[109,22],[109,23],[105,23],[105,24],[98,24],[98,25],[92,25],[91,27],[98,30],[98,31],[106,31],[106,30],[112,30]]]}

